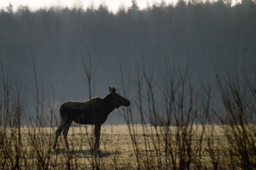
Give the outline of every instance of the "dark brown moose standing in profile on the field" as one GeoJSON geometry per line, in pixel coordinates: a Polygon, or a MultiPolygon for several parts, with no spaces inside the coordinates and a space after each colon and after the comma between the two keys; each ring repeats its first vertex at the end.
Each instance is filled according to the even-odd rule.
{"type": "Polygon", "coordinates": [[[95,143],[94,149],[99,149],[99,138],[101,136],[101,125],[105,123],[108,115],[118,110],[120,106],[130,106],[130,101],[116,93],[116,89],[109,87],[110,94],[103,99],[95,97],[87,102],[65,102],[60,106],[60,126],[56,131],[53,149],[56,149],[58,137],[62,132],[67,149],[67,133],[72,122],[77,124],[94,124],[95,143]]]}

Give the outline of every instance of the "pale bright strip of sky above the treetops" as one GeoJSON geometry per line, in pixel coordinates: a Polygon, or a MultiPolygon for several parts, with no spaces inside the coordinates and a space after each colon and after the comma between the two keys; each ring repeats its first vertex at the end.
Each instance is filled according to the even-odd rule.
{"type": "MultiPolygon", "coordinates": [[[[75,4],[81,4],[83,8],[87,8],[87,6],[92,6],[93,4],[94,8],[98,8],[99,5],[103,3],[105,6],[108,6],[109,10],[116,12],[120,6],[124,6],[125,8],[131,6],[131,1],[132,0],[0,0],[0,8],[5,8],[9,3],[12,4],[14,10],[16,10],[19,5],[27,5],[31,7],[32,10],[50,6],[74,7],[75,4]]],[[[176,1],[177,0],[165,0],[167,3],[176,3],[176,1]]],[[[151,6],[153,3],[160,2],[161,0],[137,0],[139,9],[146,8],[147,4],[151,6]]]]}

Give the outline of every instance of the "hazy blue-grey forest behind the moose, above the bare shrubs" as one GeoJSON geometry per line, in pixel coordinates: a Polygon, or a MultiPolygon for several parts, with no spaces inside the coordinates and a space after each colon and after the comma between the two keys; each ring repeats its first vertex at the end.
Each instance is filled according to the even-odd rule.
{"type": "Polygon", "coordinates": [[[256,3],[180,0],[173,6],[162,1],[140,10],[133,1],[128,10],[120,8],[116,14],[103,5],[86,10],[55,6],[33,11],[19,6],[13,11],[11,5],[1,9],[3,70],[33,93],[34,61],[40,88],[48,93],[54,88],[56,101],[89,100],[81,53],[92,57],[95,96],[104,97],[108,86],[118,85],[119,63],[128,79],[142,55],[154,76],[164,74],[165,59],[182,69],[188,62],[190,81],[198,84],[203,79],[215,89],[213,64],[220,73],[235,68],[253,74],[256,3]]]}

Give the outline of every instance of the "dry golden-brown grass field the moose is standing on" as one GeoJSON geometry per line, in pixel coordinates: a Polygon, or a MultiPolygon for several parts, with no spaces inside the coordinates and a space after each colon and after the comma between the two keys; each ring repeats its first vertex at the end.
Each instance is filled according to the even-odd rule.
{"type": "MultiPolygon", "coordinates": [[[[157,126],[155,131],[148,125],[130,126],[130,130],[127,125],[105,125],[100,150],[94,151],[92,126],[71,126],[69,151],[62,135],[53,151],[56,127],[22,127],[20,133],[1,127],[0,169],[176,169],[173,163],[180,161],[179,169],[230,169],[234,165],[225,127],[205,126],[203,137],[203,126],[187,128],[191,128],[191,138],[182,139],[176,126],[157,126]]],[[[241,169],[239,162],[235,169],[241,169]]]]}

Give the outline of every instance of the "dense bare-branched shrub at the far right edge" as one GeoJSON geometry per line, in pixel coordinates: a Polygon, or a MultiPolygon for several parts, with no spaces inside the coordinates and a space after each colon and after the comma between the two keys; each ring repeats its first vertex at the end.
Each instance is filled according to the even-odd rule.
{"type": "Polygon", "coordinates": [[[216,73],[225,111],[219,116],[223,135],[228,140],[230,167],[253,169],[256,167],[255,133],[255,79],[237,71],[226,73],[221,78],[216,73]],[[224,115],[224,116],[223,116],[224,115]]]}

